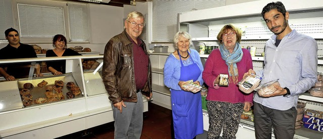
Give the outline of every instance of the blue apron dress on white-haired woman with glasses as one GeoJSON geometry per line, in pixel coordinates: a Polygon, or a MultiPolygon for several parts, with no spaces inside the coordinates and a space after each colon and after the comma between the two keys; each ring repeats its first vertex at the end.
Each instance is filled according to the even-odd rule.
{"type": "MultiPolygon", "coordinates": [[[[188,53],[190,54],[190,53],[188,53]]],[[[192,56],[190,60],[193,64],[184,66],[181,60],[180,81],[193,80],[195,82],[201,74],[201,70],[194,63],[192,56]]],[[[203,133],[203,114],[201,93],[171,90],[173,121],[175,138],[190,139],[197,134],[203,133]]]]}

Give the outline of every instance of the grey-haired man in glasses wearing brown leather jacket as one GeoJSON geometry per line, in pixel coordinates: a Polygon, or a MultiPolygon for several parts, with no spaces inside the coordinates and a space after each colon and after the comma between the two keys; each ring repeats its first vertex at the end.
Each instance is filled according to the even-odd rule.
{"type": "Polygon", "coordinates": [[[115,138],[140,138],[142,95],[151,98],[151,65],[145,43],[138,37],[145,25],[139,12],[128,14],[125,30],[105,45],[102,78],[115,118],[115,138]]]}

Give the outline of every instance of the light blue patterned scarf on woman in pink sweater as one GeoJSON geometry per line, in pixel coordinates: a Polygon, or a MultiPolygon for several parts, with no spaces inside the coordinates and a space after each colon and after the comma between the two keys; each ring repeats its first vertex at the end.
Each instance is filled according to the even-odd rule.
{"type": "Polygon", "coordinates": [[[229,81],[230,83],[238,83],[238,67],[237,62],[240,62],[243,56],[243,52],[241,49],[241,46],[239,43],[236,43],[236,46],[233,49],[233,52],[230,53],[227,48],[225,48],[224,44],[220,45],[220,52],[221,57],[223,60],[226,61],[226,64],[228,65],[228,72],[229,72],[229,81]]]}

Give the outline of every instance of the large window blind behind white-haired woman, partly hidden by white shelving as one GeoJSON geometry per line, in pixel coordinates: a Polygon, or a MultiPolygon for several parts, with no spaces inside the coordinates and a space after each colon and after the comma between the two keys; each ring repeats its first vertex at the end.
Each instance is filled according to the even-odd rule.
{"type": "Polygon", "coordinates": [[[226,0],[154,0],[152,1],[152,41],[173,41],[177,32],[178,13],[225,5],[226,0]]]}

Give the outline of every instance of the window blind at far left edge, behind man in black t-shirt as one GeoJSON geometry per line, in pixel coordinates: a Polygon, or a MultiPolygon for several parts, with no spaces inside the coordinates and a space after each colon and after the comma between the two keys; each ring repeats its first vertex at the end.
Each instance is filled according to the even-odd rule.
{"type": "Polygon", "coordinates": [[[0,41],[6,40],[5,30],[9,28],[14,28],[11,1],[0,0],[0,41]]]}

